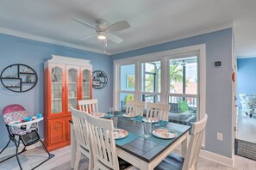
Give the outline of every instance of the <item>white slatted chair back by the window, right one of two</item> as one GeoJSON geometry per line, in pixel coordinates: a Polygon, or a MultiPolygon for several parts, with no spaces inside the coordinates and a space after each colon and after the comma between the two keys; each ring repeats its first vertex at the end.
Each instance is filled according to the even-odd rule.
{"type": "Polygon", "coordinates": [[[161,103],[147,103],[147,118],[158,118],[159,120],[169,121],[170,105],[161,103]]]}

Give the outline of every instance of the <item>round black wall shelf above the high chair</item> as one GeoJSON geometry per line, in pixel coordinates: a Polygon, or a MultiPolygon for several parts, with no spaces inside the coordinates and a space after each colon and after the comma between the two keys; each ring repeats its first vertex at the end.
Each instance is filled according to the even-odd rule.
{"type": "Polygon", "coordinates": [[[34,69],[26,64],[12,64],[3,69],[0,80],[4,88],[22,93],[34,88],[38,77],[34,69]]]}

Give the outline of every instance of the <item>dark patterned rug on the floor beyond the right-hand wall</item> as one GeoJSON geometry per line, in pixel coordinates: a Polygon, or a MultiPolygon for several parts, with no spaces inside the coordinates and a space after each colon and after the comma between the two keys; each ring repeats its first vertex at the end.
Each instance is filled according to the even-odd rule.
{"type": "Polygon", "coordinates": [[[256,143],[234,139],[234,154],[256,161],[256,143]]]}

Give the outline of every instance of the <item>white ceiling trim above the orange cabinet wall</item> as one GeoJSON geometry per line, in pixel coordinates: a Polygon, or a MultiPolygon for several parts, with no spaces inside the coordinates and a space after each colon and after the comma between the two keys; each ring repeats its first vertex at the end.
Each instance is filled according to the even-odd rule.
{"type": "Polygon", "coordinates": [[[76,49],[84,50],[84,51],[88,51],[88,52],[97,52],[97,53],[101,53],[101,54],[105,54],[105,55],[111,55],[109,52],[103,52],[101,50],[97,50],[97,49],[94,49],[94,48],[89,48],[89,47],[85,47],[85,46],[79,46],[79,45],[75,45],[75,44],[71,44],[71,43],[66,43],[66,42],[63,42],[63,41],[56,40],[56,39],[48,39],[48,38],[41,37],[41,36],[38,36],[38,35],[30,34],[30,33],[22,33],[22,32],[7,29],[7,28],[4,28],[4,27],[0,27],[0,33],[9,34],[9,35],[13,35],[13,36],[16,36],[16,37],[21,37],[21,38],[24,38],[24,39],[37,40],[37,41],[41,41],[41,42],[45,42],[45,43],[50,43],[50,44],[53,44],[53,45],[76,48],[76,49]]]}

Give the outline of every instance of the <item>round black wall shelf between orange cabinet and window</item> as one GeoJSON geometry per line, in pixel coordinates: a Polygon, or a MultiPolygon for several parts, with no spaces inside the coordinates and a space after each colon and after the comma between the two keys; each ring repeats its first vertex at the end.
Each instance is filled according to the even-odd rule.
{"type": "Polygon", "coordinates": [[[92,72],[92,88],[102,89],[107,86],[108,76],[102,70],[92,72]]]}

